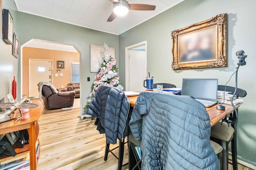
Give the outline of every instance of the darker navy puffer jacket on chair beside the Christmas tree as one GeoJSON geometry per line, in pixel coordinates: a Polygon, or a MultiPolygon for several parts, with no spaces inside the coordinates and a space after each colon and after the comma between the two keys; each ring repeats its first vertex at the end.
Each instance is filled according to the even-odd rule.
{"type": "Polygon", "coordinates": [[[106,134],[106,143],[116,144],[116,139],[128,135],[130,100],[124,92],[112,86],[100,86],[86,114],[96,116],[100,133],[106,134]]]}

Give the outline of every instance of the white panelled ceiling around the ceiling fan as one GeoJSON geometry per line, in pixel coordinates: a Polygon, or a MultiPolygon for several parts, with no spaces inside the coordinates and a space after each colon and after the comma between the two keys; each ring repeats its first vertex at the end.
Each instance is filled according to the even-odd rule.
{"type": "Polygon", "coordinates": [[[113,11],[109,0],[14,0],[18,11],[90,29],[120,35],[184,0],[127,0],[129,4],[155,5],[154,11],[129,10],[107,22],[113,11]]]}

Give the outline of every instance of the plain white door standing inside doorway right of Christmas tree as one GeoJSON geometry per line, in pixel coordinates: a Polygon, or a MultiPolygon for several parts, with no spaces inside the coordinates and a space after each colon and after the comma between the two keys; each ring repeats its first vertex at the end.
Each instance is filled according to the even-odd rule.
{"type": "Polygon", "coordinates": [[[129,50],[129,91],[144,91],[146,79],[146,52],[129,50]]]}

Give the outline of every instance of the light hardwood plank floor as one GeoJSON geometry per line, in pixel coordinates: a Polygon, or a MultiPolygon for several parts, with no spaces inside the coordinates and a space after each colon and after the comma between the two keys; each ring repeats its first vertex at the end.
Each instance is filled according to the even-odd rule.
{"type": "MultiPolygon", "coordinates": [[[[104,161],[105,137],[96,130],[91,118],[79,119],[80,108],[44,108],[38,120],[40,126],[40,158],[38,170],[116,170],[118,160],[108,154],[104,161]]],[[[111,145],[110,148],[118,146],[111,145]]],[[[118,150],[115,151],[118,155],[118,150]]],[[[125,145],[124,163],[128,162],[128,148],[125,145]]],[[[128,170],[124,166],[123,170],[128,170]]],[[[229,169],[232,166],[229,165],[229,169]]],[[[251,170],[241,164],[238,170],[251,170]]]]}

